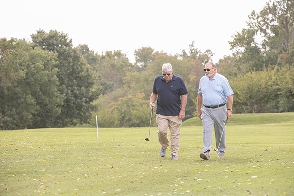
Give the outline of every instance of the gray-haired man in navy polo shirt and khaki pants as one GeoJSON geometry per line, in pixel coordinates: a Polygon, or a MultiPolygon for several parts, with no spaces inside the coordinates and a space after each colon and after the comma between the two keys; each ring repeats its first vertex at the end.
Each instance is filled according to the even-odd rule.
{"type": "Polygon", "coordinates": [[[160,156],[165,157],[169,146],[168,127],[171,132],[172,160],[178,159],[180,148],[180,127],[185,118],[187,89],[184,80],[173,75],[172,65],[162,65],[162,75],[154,80],[153,92],[150,97],[150,108],[153,109],[157,99],[156,123],[158,141],[161,144],[160,156]],[[181,100],[182,99],[182,100],[181,100]]]}

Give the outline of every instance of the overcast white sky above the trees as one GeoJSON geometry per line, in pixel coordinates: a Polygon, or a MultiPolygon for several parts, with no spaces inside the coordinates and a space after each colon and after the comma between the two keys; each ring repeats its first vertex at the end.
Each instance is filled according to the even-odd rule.
{"type": "Polygon", "coordinates": [[[152,47],[168,54],[192,41],[217,62],[230,54],[228,41],[246,28],[248,15],[269,0],[1,0],[0,38],[25,38],[38,29],[67,33],[73,45],[98,54],[152,47]]]}

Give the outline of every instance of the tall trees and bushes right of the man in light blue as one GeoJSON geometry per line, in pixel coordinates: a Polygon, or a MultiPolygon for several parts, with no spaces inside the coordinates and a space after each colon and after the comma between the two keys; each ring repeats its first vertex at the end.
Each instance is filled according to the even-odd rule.
{"type": "Polygon", "coordinates": [[[219,62],[233,81],[235,112],[294,111],[294,1],[270,0],[247,24],[219,62]]]}

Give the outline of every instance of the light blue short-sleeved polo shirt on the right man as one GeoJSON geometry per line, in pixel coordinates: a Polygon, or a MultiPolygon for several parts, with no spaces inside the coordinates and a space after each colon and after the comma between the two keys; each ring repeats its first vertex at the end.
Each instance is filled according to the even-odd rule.
{"type": "Polygon", "coordinates": [[[199,82],[198,94],[203,96],[203,104],[207,106],[221,105],[228,101],[228,96],[234,92],[223,75],[216,73],[212,79],[203,76],[199,82]]]}

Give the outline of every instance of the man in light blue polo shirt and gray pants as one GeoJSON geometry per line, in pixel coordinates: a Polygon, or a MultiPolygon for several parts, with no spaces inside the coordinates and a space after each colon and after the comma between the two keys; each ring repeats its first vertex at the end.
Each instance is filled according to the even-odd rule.
{"type": "Polygon", "coordinates": [[[200,157],[204,160],[209,160],[213,126],[215,129],[218,158],[224,157],[226,148],[225,122],[227,118],[232,116],[234,92],[227,78],[217,73],[215,63],[206,63],[204,73],[205,76],[199,82],[197,97],[198,117],[203,123],[203,152],[200,154],[200,157]],[[226,104],[227,107],[225,107],[226,104]],[[224,131],[223,135],[222,131],[224,131]],[[220,144],[219,147],[218,144],[220,144]]]}

